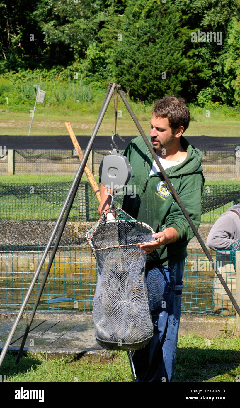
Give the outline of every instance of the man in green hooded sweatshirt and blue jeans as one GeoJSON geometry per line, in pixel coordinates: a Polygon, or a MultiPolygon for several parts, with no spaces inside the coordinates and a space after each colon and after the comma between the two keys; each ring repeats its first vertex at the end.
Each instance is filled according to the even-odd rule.
{"type": "MultiPolygon", "coordinates": [[[[183,98],[167,96],[157,100],[153,111],[150,139],[170,181],[194,225],[198,228],[204,177],[202,153],[182,136],[190,113],[183,98]]],[[[131,184],[136,195],[125,195],[123,210],[156,232],[155,242],[141,245],[147,253],[146,285],[154,335],[145,348],[132,355],[137,381],[170,381],[176,360],[183,270],[186,247],[194,236],[174,200],[163,175],[142,137],[136,137],[123,151],[132,165],[131,184]]],[[[99,213],[108,211],[110,197],[100,185],[99,213]]]]}

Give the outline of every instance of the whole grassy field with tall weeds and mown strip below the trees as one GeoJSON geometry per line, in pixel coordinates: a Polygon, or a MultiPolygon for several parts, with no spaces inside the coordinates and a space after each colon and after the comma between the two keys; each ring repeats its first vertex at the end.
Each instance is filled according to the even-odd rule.
{"type": "MultiPolygon", "coordinates": [[[[44,104],[37,103],[31,135],[68,135],[64,126],[70,121],[76,135],[91,135],[104,95],[105,81],[92,82],[89,78],[71,78],[72,73],[46,70],[7,72],[0,75],[0,122],[2,135],[27,135],[31,122],[30,111],[35,102],[33,84],[46,91],[44,104]],[[7,104],[7,99],[9,104],[7,104]]],[[[126,91],[123,89],[123,91],[126,91]]],[[[146,134],[150,134],[149,120],[153,104],[130,100],[130,106],[146,134]]],[[[137,136],[139,132],[130,115],[118,98],[117,131],[120,135],[137,136]]],[[[240,109],[209,102],[205,107],[189,104],[191,121],[185,135],[238,136],[240,135],[240,109]],[[207,111],[207,117],[206,117],[207,111]],[[209,113],[209,116],[208,116],[209,113]]],[[[111,135],[114,129],[114,103],[110,101],[100,126],[99,135],[111,135]]]]}

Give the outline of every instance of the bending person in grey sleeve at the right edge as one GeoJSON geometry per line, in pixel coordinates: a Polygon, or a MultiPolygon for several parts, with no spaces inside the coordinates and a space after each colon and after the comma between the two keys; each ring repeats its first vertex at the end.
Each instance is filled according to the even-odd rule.
{"type": "MultiPolygon", "coordinates": [[[[236,272],[231,263],[229,247],[233,242],[236,242],[239,239],[240,204],[236,204],[220,215],[207,237],[207,245],[209,248],[217,251],[216,261],[221,262],[218,269],[235,299],[236,272]]],[[[213,284],[213,300],[214,309],[217,314],[228,315],[232,310],[232,303],[216,275],[214,276],[213,284]]]]}

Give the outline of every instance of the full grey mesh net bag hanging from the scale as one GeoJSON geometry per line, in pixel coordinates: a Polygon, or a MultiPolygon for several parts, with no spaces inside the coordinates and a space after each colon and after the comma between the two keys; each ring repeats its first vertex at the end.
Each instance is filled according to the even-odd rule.
{"type": "Polygon", "coordinates": [[[95,337],[108,350],[139,350],[153,336],[145,285],[145,261],[140,244],[152,241],[154,231],[125,211],[116,220],[102,213],[86,234],[95,251],[98,280],[92,302],[95,337]]]}

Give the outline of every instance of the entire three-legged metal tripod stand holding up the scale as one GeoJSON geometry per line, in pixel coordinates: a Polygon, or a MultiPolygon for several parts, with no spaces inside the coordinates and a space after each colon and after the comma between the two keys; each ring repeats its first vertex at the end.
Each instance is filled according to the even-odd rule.
{"type": "Polygon", "coordinates": [[[57,247],[58,247],[58,245],[59,245],[59,241],[60,241],[60,239],[61,239],[61,237],[62,237],[62,233],[63,233],[63,231],[64,231],[64,227],[65,227],[65,225],[66,225],[66,222],[67,222],[67,219],[68,219],[68,215],[69,215],[69,213],[70,213],[70,209],[71,209],[71,207],[72,207],[72,204],[73,204],[75,195],[76,195],[76,193],[77,193],[77,189],[78,189],[78,187],[79,187],[79,183],[80,183],[80,181],[81,181],[81,177],[82,177],[82,175],[83,175],[84,168],[85,168],[85,166],[86,166],[86,162],[87,162],[88,156],[89,156],[89,154],[90,154],[90,150],[92,149],[93,142],[94,142],[94,140],[95,140],[95,137],[96,137],[96,135],[97,135],[97,132],[98,132],[98,130],[99,130],[99,127],[100,127],[100,125],[101,125],[101,122],[102,122],[102,120],[103,120],[103,117],[104,117],[104,115],[105,115],[105,113],[106,113],[106,110],[107,110],[107,108],[108,108],[108,104],[109,104],[109,102],[110,102],[110,100],[111,100],[111,98],[112,98],[112,95],[113,95],[113,93],[114,93],[114,89],[116,89],[117,92],[119,93],[119,95],[121,96],[121,99],[123,100],[123,102],[124,102],[126,108],[128,109],[128,112],[130,113],[130,115],[131,115],[131,117],[132,117],[134,123],[136,124],[137,129],[139,130],[139,133],[140,133],[141,136],[143,137],[143,140],[144,140],[145,144],[147,145],[147,147],[148,147],[150,153],[152,154],[152,156],[153,156],[153,158],[154,158],[154,160],[155,160],[157,166],[159,167],[159,170],[161,171],[163,177],[165,178],[165,181],[167,182],[167,185],[168,185],[168,187],[170,188],[170,191],[172,191],[172,194],[173,194],[174,199],[176,200],[176,202],[178,203],[179,207],[181,208],[181,210],[182,210],[182,212],[183,212],[183,215],[185,216],[185,218],[187,219],[189,225],[191,226],[192,231],[194,232],[195,236],[197,237],[198,242],[200,243],[201,247],[203,248],[203,251],[205,252],[207,258],[209,259],[211,265],[213,266],[214,271],[216,272],[218,278],[220,279],[220,282],[221,282],[222,286],[223,286],[224,289],[226,290],[227,295],[229,296],[229,299],[231,300],[233,306],[235,307],[236,312],[237,312],[238,315],[240,316],[240,308],[239,308],[238,304],[236,303],[236,300],[234,299],[233,295],[231,294],[231,291],[229,290],[229,288],[228,288],[226,282],[225,282],[224,279],[222,278],[222,275],[221,275],[220,272],[218,271],[218,268],[216,267],[216,263],[215,263],[214,260],[212,259],[211,255],[210,255],[210,253],[209,253],[209,251],[208,251],[208,249],[207,249],[207,247],[205,246],[205,244],[204,244],[202,238],[200,237],[200,235],[199,235],[199,233],[198,233],[196,227],[194,226],[194,224],[193,224],[191,218],[189,217],[189,215],[188,215],[188,213],[187,213],[185,207],[183,206],[183,203],[181,202],[180,198],[178,197],[178,194],[176,193],[176,191],[175,191],[174,187],[172,186],[172,184],[171,184],[169,178],[167,177],[167,174],[166,174],[165,171],[163,170],[163,167],[161,166],[161,163],[159,162],[158,157],[156,156],[156,153],[154,152],[154,149],[152,148],[150,142],[148,141],[148,138],[146,137],[145,133],[143,132],[143,129],[141,128],[141,126],[140,126],[140,124],[139,124],[139,122],[138,122],[136,116],[134,115],[134,113],[133,113],[133,111],[132,111],[132,109],[131,109],[131,107],[130,107],[128,101],[126,100],[126,97],[125,97],[123,91],[121,90],[121,85],[115,84],[115,83],[109,83],[109,84],[108,84],[108,89],[107,89],[107,91],[106,91],[105,98],[104,98],[104,100],[103,100],[103,104],[102,104],[102,106],[101,106],[101,109],[100,109],[100,112],[99,112],[99,115],[98,115],[98,118],[97,118],[97,122],[96,122],[96,124],[95,124],[95,128],[94,128],[93,133],[92,133],[92,136],[90,137],[90,140],[89,140],[89,142],[88,142],[88,146],[87,146],[87,148],[86,148],[86,151],[85,151],[85,153],[84,153],[84,156],[83,156],[83,158],[82,158],[82,161],[81,161],[81,163],[80,163],[80,165],[79,165],[79,168],[78,168],[78,170],[77,170],[77,173],[76,173],[76,175],[75,175],[75,177],[74,177],[73,183],[72,183],[72,185],[71,185],[71,187],[70,187],[70,190],[69,190],[69,192],[68,192],[68,195],[67,195],[67,197],[66,197],[66,200],[65,200],[65,202],[64,202],[64,204],[63,204],[63,206],[62,206],[62,209],[61,209],[61,212],[60,212],[60,214],[59,214],[59,217],[57,218],[57,221],[56,221],[56,223],[55,223],[55,226],[54,226],[54,228],[53,228],[53,231],[52,231],[52,233],[51,233],[51,236],[50,236],[50,238],[49,238],[49,240],[48,240],[48,243],[47,243],[47,245],[46,245],[46,248],[44,249],[44,253],[43,253],[43,255],[42,255],[42,258],[41,258],[41,260],[40,260],[39,265],[37,266],[37,269],[36,269],[35,274],[34,274],[34,276],[33,276],[32,282],[31,282],[31,284],[30,284],[30,286],[29,286],[29,289],[28,289],[28,291],[27,291],[27,293],[26,293],[26,295],[25,295],[25,297],[24,297],[24,301],[23,301],[23,303],[22,303],[22,306],[20,307],[20,310],[19,310],[19,312],[18,312],[18,315],[17,315],[17,318],[16,318],[16,320],[15,320],[15,323],[14,323],[14,325],[13,325],[13,327],[12,327],[10,333],[9,333],[9,336],[8,336],[8,338],[7,338],[7,341],[6,341],[5,345],[4,345],[4,348],[2,349],[2,353],[1,353],[1,355],[0,355],[0,366],[1,366],[1,364],[2,364],[2,361],[3,361],[3,359],[4,359],[4,356],[5,356],[6,353],[7,353],[7,349],[8,349],[8,347],[9,347],[10,343],[11,343],[11,340],[12,340],[12,338],[13,338],[13,335],[14,335],[14,333],[15,333],[15,330],[16,330],[16,328],[17,328],[19,322],[20,322],[20,319],[21,319],[22,314],[23,314],[23,312],[24,312],[24,308],[26,307],[26,304],[27,304],[27,302],[28,302],[28,300],[29,300],[29,297],[30,297],[30,295],[31,295],[31,292],[32,292],[32,290],[33,290],[33,287],[34,287],[34,285],[35,285],[35,283],[36,283],[36,281],[37,281],[37,278],[38,278],[38,276],[39,276],[39,274],[40,274],[40,271],[41,271],[41,269],[42,269],[42,266],[43,266],[43,264],[44,264],[44,261],[45,261],[45,259],[46,259],[47,254],[48,254],[49,248],[51,247],[51,244],[52,244],[52,242],[53,242],[53,239],[54,239],[54,237],[55,237],[55,235],[56,235],[56,233],[57,233],[57,229],[58,229],[58,227],[59,227],[59,225],[60,225],[60,223],[61,223],[61,221],[62,221],[61,227],[60,227],[60,229],[59,229],[59,233],[57,234],[57,238],[56,238],[56,241],[55,241],[55,244],[54,244],[54,247],[53,247],[53,251],[51,252],[51,256],[50,256],[50,259],[49,259],[49,262],[48,262],[48,266],[47,266],[47,268],[46,268],[46,272],[45,272],[44,277],[43,277],[43,280],[42,280],[42,284],[41,284],[41,286],[40,286],[40,290],[39,290],[39,292],[38,292],[38,294],[37,294],[37,298],[36,298],[36,300],[35,300],[35,303],[34,303],[34,306],[33,306],[33,310],[32,310],[32,312],[31,312],[31,315],[30,315],[30,317],[29,317],[28,324],[27,324],[27,326],[26,326],[26,330],[25,330],[25,333],[24,333],[24,336],[23,336],[23,339],[22,339],[22,343],[21,343],[21,345],[20,345],[20,349],[19,349],[19,352],[18,352],[18,356],[17,356],[16,362],[18,363],[18,361],[19,361],[19,359],[20,359],[20,356],[21,356],[21,354],[22,354],[22,350],[23,350],[23,348],[24,348],[24,344],[25,344],[26,338],[27,338],[27,336],[28,336],[28,333],[29,333],[31,324],[32,324],[32,322],[33,322],[33,318],[34,318],[35,312],[36,312],[36,310],[37,310],[37,305],[38,305],[38,303],[39,303],[39,301],[40,301],[40,297],[41,297],[41,295],[42,295],[42,292],[43,292],[43,289],[44,289],[46,280],[47,280],[47,278],[48,278],[48,274],[49,274],[49,271],[50,271],[51,266],[52,266],[52,263],[53,263],[53,259],[54,259],[55,254],[56,254],[57,247]],[[66,211],[66,212],[65,212],[65,211],[66,211]],[[65,213],[65,215],[64,215],[64,213],[65,213]],[[63,218],[63,217],[64,217],[64,218],[63,218]],[[63,219],[63,220],[62,220],[62,219],[63,219]]]}

